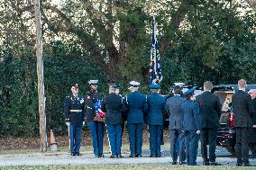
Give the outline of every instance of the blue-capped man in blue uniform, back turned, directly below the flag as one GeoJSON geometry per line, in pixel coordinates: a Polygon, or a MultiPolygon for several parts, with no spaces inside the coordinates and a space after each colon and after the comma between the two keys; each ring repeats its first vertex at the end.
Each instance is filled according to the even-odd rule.
{"type": "Polygon", "coordinates": [[[165,108],[165,97],[161,96],[160,85],[150,85],[151,94],[148,96],[148,112],[145,121],[150,130],[151,157],[160,157],[161,132],[163,125],[163,113],[165,108]]]}

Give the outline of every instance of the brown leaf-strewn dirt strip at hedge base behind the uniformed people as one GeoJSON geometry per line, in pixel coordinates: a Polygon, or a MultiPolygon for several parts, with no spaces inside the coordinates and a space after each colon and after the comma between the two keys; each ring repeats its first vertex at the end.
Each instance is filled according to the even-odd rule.
{"type": "MultiPolygon", "coordinates": [[[[69,146],[69,136],[55,136],[56,142],[59,147],[67,147],[69,146]]],[[[105,132],[105,144],[108,144],[107,133],[105,132]]],[[[169,131],[164,130],[164,141],[169,142],[169,131]]],[[[124,129],[123,132],[123,144],[128,144],[128,133],[127,130],[124,129]]],[[[143,143],[149,143],[149,131],[147,127],[144,127],[143,130],[143,143]]],[[[90,146],[92,145],[92,139],[89,130],[82,131],[82,146],[90,146]]],[[[10,149],[36,149],[40,148],[40,139],[39,138],[1,138],[0,139],[0,149],[1,150],[10,150],[10,149]]]]}

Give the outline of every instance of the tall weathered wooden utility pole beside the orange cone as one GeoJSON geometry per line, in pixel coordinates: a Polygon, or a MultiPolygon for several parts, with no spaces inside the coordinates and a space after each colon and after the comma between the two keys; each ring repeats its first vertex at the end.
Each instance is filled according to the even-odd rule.
{"type": "Polygon", "coordinates": [[[45,116],[44,83],[43,83],[40,0],[35,0],[34,3],[35,3],[34,4],[35,27],[36,27],[38,103],[39,103],[39,116],[40,116],[40,142],[41,142],[41,151],[45,152],[47,150],[47,136],[46,136],[46,116],[45,116]]]}

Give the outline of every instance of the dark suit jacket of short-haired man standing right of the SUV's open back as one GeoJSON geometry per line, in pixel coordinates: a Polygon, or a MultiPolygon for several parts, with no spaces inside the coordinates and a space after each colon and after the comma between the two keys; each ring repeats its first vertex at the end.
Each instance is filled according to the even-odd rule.
{"type": "Polygon", "coordinates": [[[242,90],[232,96],[234,127],[252,128],[253,106],[251,96],[242,90]]]}

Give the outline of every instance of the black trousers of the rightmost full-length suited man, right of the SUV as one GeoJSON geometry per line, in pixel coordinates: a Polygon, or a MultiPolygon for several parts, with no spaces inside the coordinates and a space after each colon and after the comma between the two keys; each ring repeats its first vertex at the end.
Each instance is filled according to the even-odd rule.
{"type": "Polygon", "coordinates": [[[236,127],[235,154],[238,164],[249,164],[249,144],[252,128],[236,127]]]}

